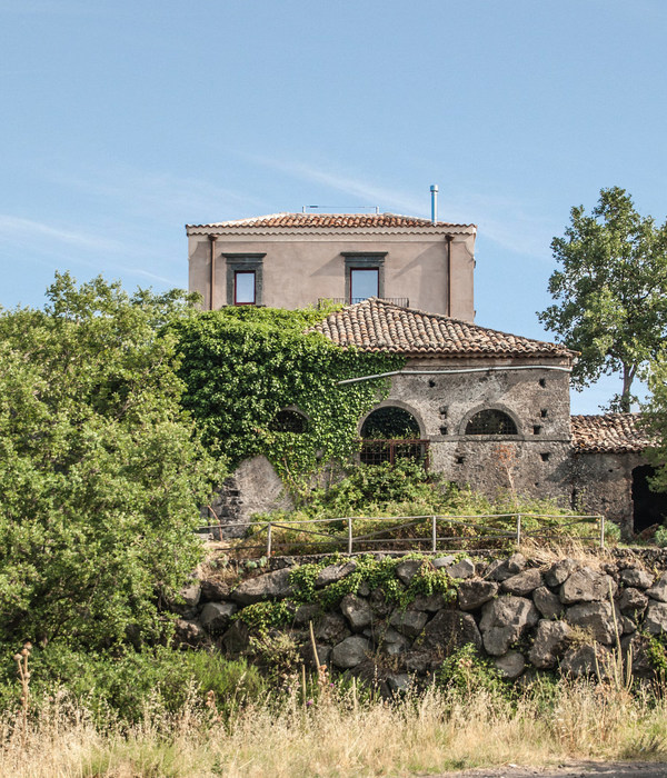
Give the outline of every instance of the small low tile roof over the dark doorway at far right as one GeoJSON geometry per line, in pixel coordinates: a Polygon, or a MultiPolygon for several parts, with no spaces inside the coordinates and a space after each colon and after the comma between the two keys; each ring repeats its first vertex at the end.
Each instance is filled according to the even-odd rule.
{"type": "Polygon", "coordinates": [[[650,436],[639,425],[640,413],[573,416],[573,447],[586,453],[643,451],[650,436]]]}

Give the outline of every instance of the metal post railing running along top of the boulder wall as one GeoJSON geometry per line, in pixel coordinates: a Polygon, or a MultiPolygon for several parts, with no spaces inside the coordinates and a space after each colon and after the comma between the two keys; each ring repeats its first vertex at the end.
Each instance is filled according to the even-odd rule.
{"type": "Polygon", "coordinates": [[[341,551],[351,555],[357,551],[396,551],[421,550],[429,552],[486,550],[485,542],[492,547],[511,543],[520,547],[526,540],[565,540],[576,538],[580,541],[595,541],[605,547],[604,516],[557,516],[545,513],[488,513],[482,516],[390,516],[390,517],[342,517],[335,519],[301,519],[299,521],[245,521],[217,523],[201,527],[199,531],[209,531],[222,537],[226,527],[250,528],[250,535],[239,539],[235,551],[265,551],[267,557],[276,549],[290,549],[290,555],[312,552],[312,549],[341,551]],[[364,522],[361,533],[355,533],[355,522],[364,522]],[[369,531],[369,522],[392,522],[388,528],[369,531]],[[398,522],[398,523],[396,523],[398,522]],[[334,525],[334,531],[322,531],[325,527],[312,525],[334,525]],[[567,530],[577,525],[594,525],[593,535],[568,535],[567,530]],[[310,526],[310,527],[308,527],[310,526]],[[281,530],[281,537],[275,536],[281,530]],[[400,532],[409,532],[400,537],[400,532]],[[398,533],[399,537],[396,537],[398,533]],[[263,536],[263,537],[262,537],[263,536]],[[289,536],[293,536],[289,538],[289,536]],[[395,537],[392,537],[395,536],[395,537]],[[257,542],[261,539],[261,542],[257,542]],[[445,545],[457,548],[446,548],[445,545]],[[481,546],[480,546],[481,543],[481,546]],[[402,547],[402,548],[399,548],[402,547]]]}

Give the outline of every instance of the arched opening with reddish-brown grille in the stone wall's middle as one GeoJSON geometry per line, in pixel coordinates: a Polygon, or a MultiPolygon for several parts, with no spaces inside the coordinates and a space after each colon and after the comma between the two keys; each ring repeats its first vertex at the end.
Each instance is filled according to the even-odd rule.
{"type": "Polygon", "coordinates": [[[421,438],[417,419],[405,408],[382,406],[368,415],[361,426],[359,458],[364,465],[414,459],[428,465],[428,440],[421,438]]]}

